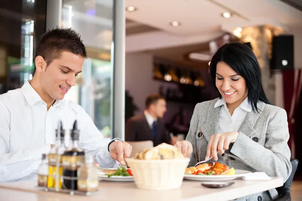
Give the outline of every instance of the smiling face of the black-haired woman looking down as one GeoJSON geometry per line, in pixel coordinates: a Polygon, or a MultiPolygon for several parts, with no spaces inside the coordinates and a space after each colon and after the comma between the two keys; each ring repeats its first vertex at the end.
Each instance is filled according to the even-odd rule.
{"type": "Polygon", "coordinates": [[[224,62],[220,61],[216,65],[215,83],[228,105],[238,107],[248,96],[245,79],[224,62]]]}

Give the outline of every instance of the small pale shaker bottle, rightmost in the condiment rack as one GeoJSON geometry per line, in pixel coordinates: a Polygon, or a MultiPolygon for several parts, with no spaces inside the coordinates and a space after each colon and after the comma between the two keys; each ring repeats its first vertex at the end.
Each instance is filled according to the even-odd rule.
{"type": "Polygon", "coordinates": [[[78,169],[78,190],[93,192],[98,189],[98,170],[94,167],[93,155],[85,155],[85,162],[78,169]]]}

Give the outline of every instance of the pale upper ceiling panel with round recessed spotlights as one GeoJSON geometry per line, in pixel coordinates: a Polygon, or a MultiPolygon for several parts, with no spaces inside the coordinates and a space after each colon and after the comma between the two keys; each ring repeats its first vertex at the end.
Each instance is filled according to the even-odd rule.
{"type": "Polygon", "coordinates": [[[302,25],[302,12],[279,0],[126,0],[126,6],[137,7],[126,13],[127,19],[184,36],[215,32],[225,25],[302,25]],[[235,15],[225,19],[223,12],[235,15]],[[182,26],[172,27],[172,21],[182,26]]]}

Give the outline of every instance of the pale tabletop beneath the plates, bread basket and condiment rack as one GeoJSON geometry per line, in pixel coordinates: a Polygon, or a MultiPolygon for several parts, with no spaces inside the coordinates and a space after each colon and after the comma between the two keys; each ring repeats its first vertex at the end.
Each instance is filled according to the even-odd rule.
{"type": "Polygon", "coordinates": [[[135,182],[99,182],[98,190],[90,196],[70,195],[69,193],[45,191],[37,187],[36,180],[0,183],[0,200],[20,201],[97,201],[97,200],[233,200],[253,193],[283,185],[283,178],[271,177],[270,180],[243,180],[222,188],[208,188],[201,181],[183,180],[180,188],[171,190],[149,190],[137,188],[135,182]]]}

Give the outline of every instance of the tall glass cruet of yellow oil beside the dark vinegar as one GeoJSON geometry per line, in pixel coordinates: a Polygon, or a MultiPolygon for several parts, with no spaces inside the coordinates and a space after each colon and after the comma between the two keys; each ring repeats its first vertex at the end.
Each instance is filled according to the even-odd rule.
{"type": "Polygon", "coordinates": [[[61,166],[62,160],[61,155],[65,151],[64,146],[64,136],[65,132],[63,130],[62,122],[58,123],[58,128],[56,129],[56,141],[54,147],[50,150],[48,154],[48,181],[47,187],[49,188],[62,188],[61,176],[63,169],[61,166]]]}

